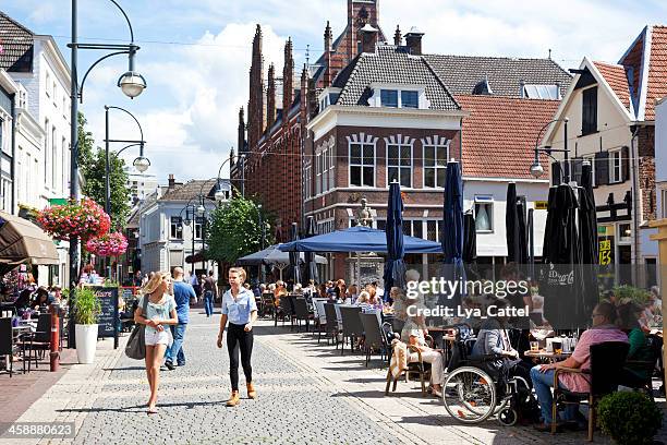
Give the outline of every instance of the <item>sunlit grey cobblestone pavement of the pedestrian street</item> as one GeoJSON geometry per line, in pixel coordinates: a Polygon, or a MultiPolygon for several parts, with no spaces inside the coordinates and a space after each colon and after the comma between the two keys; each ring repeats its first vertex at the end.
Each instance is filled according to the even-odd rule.
{"type": "MultiPolygon", "coordinates": [[[[72,421],[73,441],[22,440],[2,444],[579,444],[584,434],[551,436],[496,421],[460,425],[441,402],[423,398],[419,384],[399,383],[384,396],[386,368],[366,369],[357,354],[341,357],[312,334],[259,322],[253,353],[257,400],[227,408],[227,351],[215,346],[219,315],[194,310],[187,364],[161,372],[159,413],[147,416],[143,362],[112,341],[98,344],[96,362],[73,366],[20,421],[72,421]]],[[[126,337],[121,341],[124,345],[126,337]]],[[[241,393],[245,397],[241,372],[241,393]]],[[[662,437],[660,437],[662,438],[662,437]]],[[[601,434],[596,443],[608,443],[601,434]]]]}

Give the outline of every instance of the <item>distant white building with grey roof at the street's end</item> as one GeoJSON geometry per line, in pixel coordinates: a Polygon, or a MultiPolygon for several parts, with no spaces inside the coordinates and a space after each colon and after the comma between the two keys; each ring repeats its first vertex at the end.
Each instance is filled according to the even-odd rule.
{"type": "MultiPolygon", "coordinates": [[[[204,246],[204,218],[192,212],[202,202],[208,215],[217,205],[214,200],[216,179],[192,180],[177,183],[173,176],[169,184],[161,185],[140,206],[140,242],[142,270],[171,270],[181,266],[192,272],[186,258],[204,246]]],[[[231,190],[225,181],[226,190],[231,190]]],[[[229,192],[228,192],[229,193],[229,192]]],[[[229,194],[228,194],[229,197],[229,194]]],[[[195,263],[196,274],[210,269],[204,262],[195,263]]]]}

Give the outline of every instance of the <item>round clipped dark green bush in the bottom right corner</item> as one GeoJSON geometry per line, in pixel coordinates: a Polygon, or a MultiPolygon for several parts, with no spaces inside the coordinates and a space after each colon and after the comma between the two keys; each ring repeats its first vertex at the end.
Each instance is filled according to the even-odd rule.
{"type": "Polygon", "coordinates": [[[652,444],[663,425],[663,411],[643,393],[609,394],[597,405],[602,430],[618,444],[652,444]]]}

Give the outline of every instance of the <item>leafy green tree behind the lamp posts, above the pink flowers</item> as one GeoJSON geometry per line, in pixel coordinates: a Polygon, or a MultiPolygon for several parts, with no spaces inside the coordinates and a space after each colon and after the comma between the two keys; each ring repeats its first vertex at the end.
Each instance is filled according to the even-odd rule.
{"type": "MultiPolygon", "coordinates": [[[[100,205],[105,204],[106,154],[100,147],[93,149],[93,134],[85,129],[86,119],[78,113],[78,163],[84,178],[83,193],[100,205]]],[[[112,227],[124,227],[130,215],[130,189],[128,173],[123,169],[125,161],[109,153],[110,178],[110,217],[112,227]]]]}

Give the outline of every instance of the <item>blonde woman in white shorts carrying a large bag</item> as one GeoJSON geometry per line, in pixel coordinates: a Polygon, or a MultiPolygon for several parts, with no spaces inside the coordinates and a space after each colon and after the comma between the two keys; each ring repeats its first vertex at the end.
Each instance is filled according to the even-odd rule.
{"type": "Polygon", "coordinates": [[[179,323],[171,275],[168,272],[154,274],[144,286],[138,306],[134,312],[134,322],[146,325],[146,374],[150,385],[147,412],[155,414],[160,383],[160,363],[162,363],[167,347],[171,344],[171,330],[165,326],[179,323]],[[144,299],[148,299],[146,313],[144,313],[144,299]]]}

